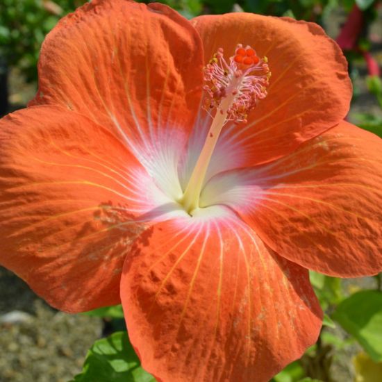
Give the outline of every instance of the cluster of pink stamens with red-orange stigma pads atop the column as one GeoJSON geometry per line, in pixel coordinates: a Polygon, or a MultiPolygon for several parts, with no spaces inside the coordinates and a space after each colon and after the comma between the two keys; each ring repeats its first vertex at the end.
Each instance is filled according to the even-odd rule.
{"type": "Polygon", "coordinates": [[[226,122],[245,123],[258,101],[267,97],[270,76],[267,58],[259,58],[249,45],[238,44],[229,62],[219,48],[204,67],[204,109],[226,114],[226,122]]]}

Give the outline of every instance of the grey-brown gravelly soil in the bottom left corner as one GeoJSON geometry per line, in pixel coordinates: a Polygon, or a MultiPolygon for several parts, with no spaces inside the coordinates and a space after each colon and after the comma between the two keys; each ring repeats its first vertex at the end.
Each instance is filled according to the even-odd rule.
{"type": "Polygon", "coordinates": [[[0,267],[1,382],[69,381],[81,371],[102,327],[97,317],[51,308],[0,267]]]}

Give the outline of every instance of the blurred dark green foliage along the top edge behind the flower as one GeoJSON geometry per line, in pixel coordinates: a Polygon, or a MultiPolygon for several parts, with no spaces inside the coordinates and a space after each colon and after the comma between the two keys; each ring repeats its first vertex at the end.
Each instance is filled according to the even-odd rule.
{"type": "MultiPolygon", "coordinates": [[[[37,80],[36,64],[45,35],[58,19],[87,0],[1,0],[0,56],[10,67],[18,67],[26,81],[37,80]]],[[[144,3],[151,0],[140,0],[144,3]]],[[[374,0],[373,0],[374,1],[374,0]]],[[[371,0],[356,0],[368,7],[371,0]]],[[[233,10],[263,15],[287,15],[321,24],[322,17],[339,5],[351,8],[355,0],[159,0],[191,18],[201,14],[233,10]]]]}

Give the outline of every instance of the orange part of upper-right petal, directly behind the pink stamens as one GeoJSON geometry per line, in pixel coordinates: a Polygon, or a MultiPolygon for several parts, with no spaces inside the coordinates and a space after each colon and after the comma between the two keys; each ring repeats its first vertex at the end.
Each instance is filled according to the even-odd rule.
{"type": "Polygon", "coordinates": [[[347,114],[347,62],[316,24],[249,13],[201,16],[192,24],[204,42],[206,62],[219,47],[232,56],[238,43],[268,58],[267,98],[249,113],[247,124],[227,124],[223,133],[226,150],[239,147],[243,166],[290,153],[347,114]]]}

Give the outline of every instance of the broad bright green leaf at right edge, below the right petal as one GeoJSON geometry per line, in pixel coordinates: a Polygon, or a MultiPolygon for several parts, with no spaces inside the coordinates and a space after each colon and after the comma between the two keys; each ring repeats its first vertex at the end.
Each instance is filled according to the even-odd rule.
{"type": "Polygon", "coordinates": [[[354,293],[338,305],[331,317],[354,335],[375,362],[382,360],[382,292],[354,293]]]}

